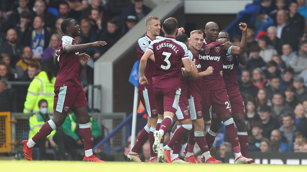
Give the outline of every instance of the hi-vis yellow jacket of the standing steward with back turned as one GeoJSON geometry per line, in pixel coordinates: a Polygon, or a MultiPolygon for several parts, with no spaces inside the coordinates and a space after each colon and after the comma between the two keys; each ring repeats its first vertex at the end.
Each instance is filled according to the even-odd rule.
{"type": "Polygon", "coordinates": [[[48,102],[48,113],[53,113],[54,99],[54,83],[56,77],[53,77],[51,82],[48,79],[47,73],[41,71],[34,77],[29,85],[27,97],[25,99],[25,108],[23,113],[29,114],[39,111],[38,102],[45,99],[48,102]]]}

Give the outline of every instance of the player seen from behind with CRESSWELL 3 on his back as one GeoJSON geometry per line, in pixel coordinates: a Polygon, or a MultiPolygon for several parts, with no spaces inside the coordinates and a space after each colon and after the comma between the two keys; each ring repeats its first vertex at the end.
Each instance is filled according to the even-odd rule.
{"type": "MultiPolygon", "coordinates": [[[[187,122],[189,116],[178,117],[183,124],[177,129],[176,134],[163,149],[160,146],[161,136],[169,130],[172,120],[177,111],[179,96],[181,94],[180,77],[181,61],[185,66],[186,73],[191,72],[191,63],[188,57],[187,46],[175,40],[177,32],[177,20],[173,17],[166,19],[163,23],[162,31],[165,33],[163,39],[153,40],[140,61],[140,80],[141,84],[147,84],[144,76],[147,59],[154,54],[156,71],[153,74],[153,92],[155,94],[155,104],[158,114],[164,114],[161,127],[153,133],[153,150],[158,153],[158,162],[164,161],[164,152],[167,151],[166,159],[170,160],[170,150],[185,133],[192,129],[192,122],[187,122]],[[162,150],[163,149],[163,150],[162,150]],[[165,151],[164,151],[165,150],[165,151]]],[[[165,160],[166,160],[165,159],[165,160]]],[[[171,161],[170,161],[171,162],[171,161]]]]}

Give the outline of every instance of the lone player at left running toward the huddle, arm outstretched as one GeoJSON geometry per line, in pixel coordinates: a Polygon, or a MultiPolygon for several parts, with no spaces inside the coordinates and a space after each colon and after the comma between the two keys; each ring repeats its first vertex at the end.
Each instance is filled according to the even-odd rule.
{"type": "Polygon", "coordinates": [[[53,117],[30,140],[23,140],[21,142],[25,159],[32,161],[33,146],[39,140],[48,136],[54,129],[61,126],[66,119],[68,111],[71,109],[79,121],[80,134],[85,150],[83,161],[103,162],[94,156],[92,152],[92,134],[87,113],[87,101],[78,77],[78,71],[80,60],[84,62],[89,60],[89,55],[85,53],[79,54],[79,51],[87,47],[104,46],[107,43],[104,41],[96,41],[76,45],[74,38],[80,36],[80,26],[72,18],[65,19],[61,23],[61,30],[64,35],[58,45],[54,58],[54,64],[59,63],[60,71],[56,76],[56,82],[54,84],[53,117]]]}

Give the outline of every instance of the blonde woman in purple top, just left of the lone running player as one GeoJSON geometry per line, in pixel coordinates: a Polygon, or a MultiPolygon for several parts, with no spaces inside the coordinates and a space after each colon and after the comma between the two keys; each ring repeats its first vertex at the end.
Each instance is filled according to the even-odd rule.
{"type": "Polygon", "coordinates": [[[58,34],[53,34],[50,37],[49,47],[44,50],[43,57],[41,58],[41,62],[45,60],[50,60],[54,58],[58,44],[60,43],[60,36],[58,34]]]}

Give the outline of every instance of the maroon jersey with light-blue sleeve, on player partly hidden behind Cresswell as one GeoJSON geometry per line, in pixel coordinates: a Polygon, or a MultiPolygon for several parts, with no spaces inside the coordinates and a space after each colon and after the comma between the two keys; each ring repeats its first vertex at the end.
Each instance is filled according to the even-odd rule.
{"type": "MultiPolygon", "coordinates": [[[[162,36],[156,36],[156,39],[161,39],[162,36]]],[[[143,54],[145,53],[147,47],[151,43],[150,37],[146,34],[144,37],[138,39],[138,43],[136,45],[136,53],[138,54],[138,60],[140,61],[143,54]]],[[[150,59],[147,60],[146,68],[144,71],[144,76],[147,78],[148,84],[138,84],[138,89],[143,90],[146,88],[152,88],[152,77],[153,73],[156,70],[154,62],[150,59]]]]}

